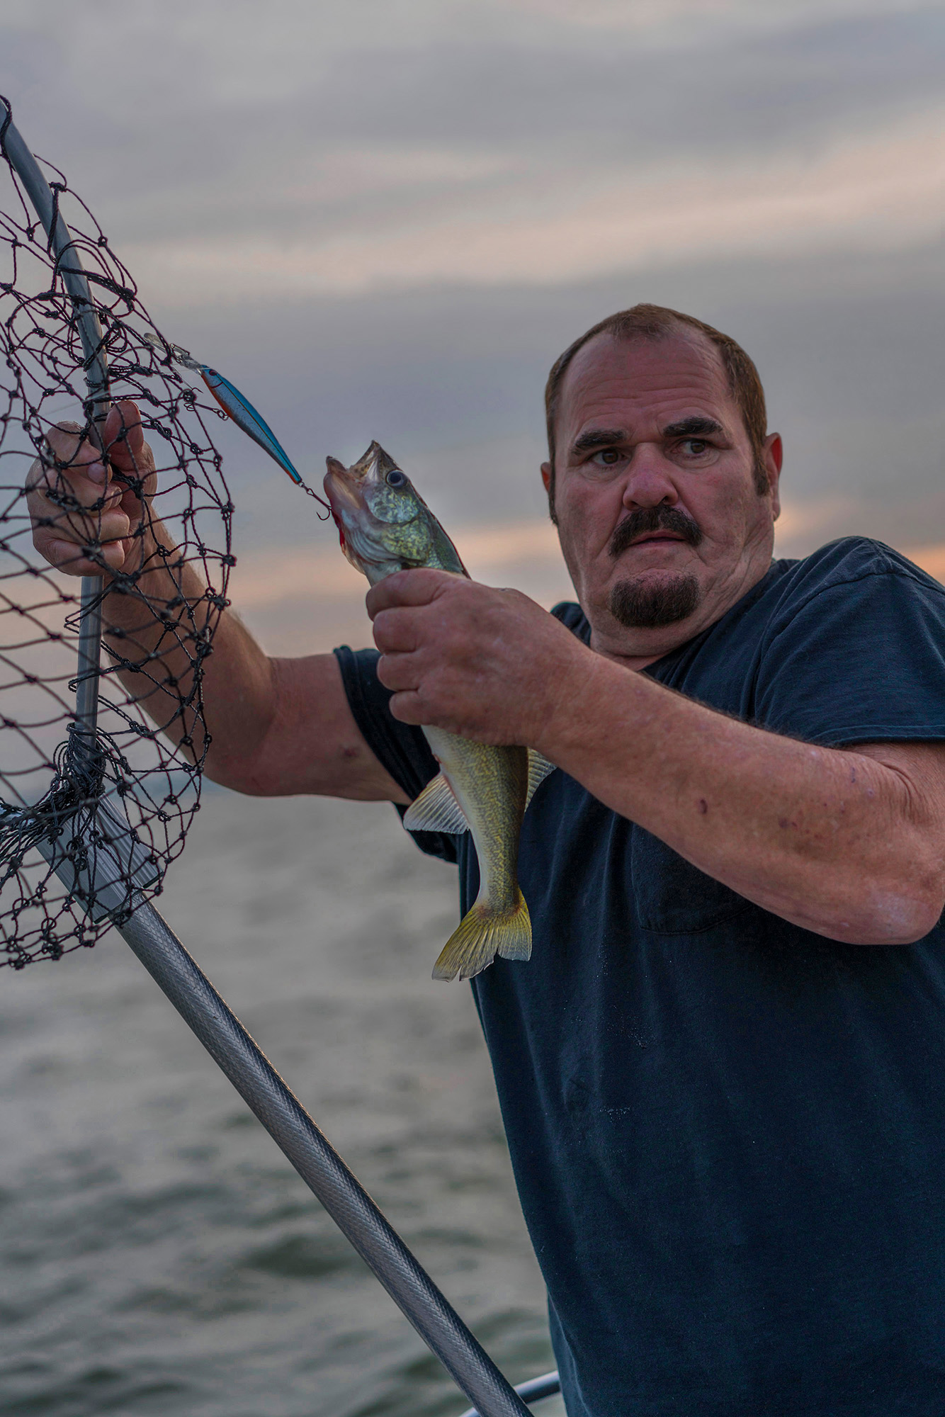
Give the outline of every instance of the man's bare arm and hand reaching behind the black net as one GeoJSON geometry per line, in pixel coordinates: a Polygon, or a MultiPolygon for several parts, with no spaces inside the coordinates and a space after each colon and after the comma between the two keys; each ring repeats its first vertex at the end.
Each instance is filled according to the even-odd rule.
{"type": "MultiPolygon", "coordinates": [[[[169,737],[193,738],[186,747],[198,754],[200,726],[180,703],[191,686],[196,638],[215,619],[215,606],[152,513],[154,462],[135,404],[109,415],[106,465],[78,432],[78,425],[51,429],[55,458],[30,472],[35,547],[69,575],[101,572],[85,550],[101,548],[111,582],[103,635],[126,665],[120,677],[169,737]],[[133,475],[139,490],[115,482],[113,468],[133,475]],[[82,510],[62,510],[57,489],[64,487],[82,510]]],[[[222,611],[204,660],[203,700],[211,737],[205,771],[214,782],[259,796],[409,801],[354,723],[334,655],[269,659],[239,618],[222,611]]]]}

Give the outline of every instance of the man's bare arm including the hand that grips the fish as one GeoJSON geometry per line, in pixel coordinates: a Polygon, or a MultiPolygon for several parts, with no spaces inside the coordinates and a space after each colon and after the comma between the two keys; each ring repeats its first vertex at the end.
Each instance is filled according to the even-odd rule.
{"type": "Polygon", "coordinates": [[[945,744],[817,748],[579,643],[514,591],[435,571],[368,595],[391,710],[541,750],[706,874],[847,944],[908,944],[945,905],[945,744]]]}

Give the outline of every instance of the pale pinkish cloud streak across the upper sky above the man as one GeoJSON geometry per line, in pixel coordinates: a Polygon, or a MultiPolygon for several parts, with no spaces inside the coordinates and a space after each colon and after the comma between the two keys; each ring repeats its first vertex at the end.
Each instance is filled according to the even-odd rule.
{"type": "MultiPolygon", "coordinates": [[[[837,247],[914,245],[941,225],[945,111],[813,159],[782,154],[707,173],[565,170],[490,198],[453,200],[380,228],[285,239],[137,242],[123,255],[169,303],[349,293],[431,283],[554,285],[613,271],[837,247]]],[[[394,164],[395,166],[395,164],[394,164]]]]}

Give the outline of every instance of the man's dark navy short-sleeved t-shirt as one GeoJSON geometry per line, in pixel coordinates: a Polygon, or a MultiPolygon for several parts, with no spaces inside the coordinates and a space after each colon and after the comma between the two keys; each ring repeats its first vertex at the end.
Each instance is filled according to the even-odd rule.
{"type": "MultiPolygon", "coordinates": [[[[414,796],[422,733],[374,652],[339,659],[414,796]]],[[[945,589],[836,541],[645,673],[809,743],[941,741],[945,589]]],[[[458,860],[465,911],[469,835],[418,840],[458,860]]],[[[944,927],[856,947],[789,925],[560,769],[519,877],[531,961],[473,989],[571,1417],[941,1417],[944,927]]]]}

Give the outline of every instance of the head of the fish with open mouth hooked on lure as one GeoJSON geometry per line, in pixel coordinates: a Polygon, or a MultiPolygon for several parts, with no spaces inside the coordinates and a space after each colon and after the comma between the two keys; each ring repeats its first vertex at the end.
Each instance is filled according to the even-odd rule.
{"type": "Polygon", "coordinates": [[[326,461],[324,495],[341,550],[371,585],[421,565],[466,574],[439,521],[380,444],[350,468],[337,458],[326,461]]]}

